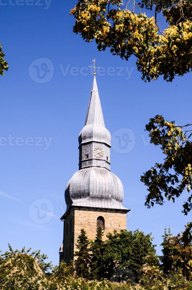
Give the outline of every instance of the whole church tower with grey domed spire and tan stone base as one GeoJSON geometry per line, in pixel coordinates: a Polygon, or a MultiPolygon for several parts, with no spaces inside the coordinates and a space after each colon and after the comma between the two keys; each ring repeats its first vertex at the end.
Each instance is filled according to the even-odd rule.
{"type": "Polygon", "coordinates": [[[104,239],[109,232],[126,229],[129,210],[122,205],[122,183],[110,171],[110,148],[111,135],[105,128],[94,73],[85,126],[79,134],[79,170],[65,189],[67,210],[61,218],[64,233],[60,261],[69,263],[74,259],[81,228],[92,240],[99,225],[104,230],[104,239]]]}

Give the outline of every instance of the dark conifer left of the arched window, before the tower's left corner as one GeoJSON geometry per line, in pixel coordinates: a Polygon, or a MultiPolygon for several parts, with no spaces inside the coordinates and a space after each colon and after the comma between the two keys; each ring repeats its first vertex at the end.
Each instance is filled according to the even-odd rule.
{"type": "Polygon", "coordinates": [[[81,234],[78,236],[77,244],[78,251],[75,252],[77,260],[75,260],[75,269],[77,275],[82,278],[89,277],[89,264],[90,264],[90,255],[89,255],[89,240],[86,236],[84,229],[81,229],[81,234]]]}

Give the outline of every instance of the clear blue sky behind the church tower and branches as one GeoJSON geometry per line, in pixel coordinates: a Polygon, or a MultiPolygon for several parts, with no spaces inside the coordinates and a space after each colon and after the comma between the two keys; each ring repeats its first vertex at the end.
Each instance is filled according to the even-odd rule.
{"type": "Polygon", "coordinates": [[[69,11],[75,3],[0,1],[0,41],[10,67],[0,78],[0,249],[7,250],[8,243],[14,249],[32,247],[58,263],[64,189],[78,170],[78,134],[93,81],[88,66],[96,58],[103,67],[97,84],[112,134],[111,170],[123,183],[124,206],[132,209],[127,229],[151,232],[161,254],[165,225],[177,234],[191,213],[181,213],[187,193],[175,204],[144,206],[147,189],[140,176],[163,158],[160,148],[149,144],[144,128],[156,114],[179,125],[191,123],[192,74],[172,83],[162,78],[144,83],[134,57],[127,62],[108,50],[98,52],[95,43],[84,43],[72,32],[69,11]],[[124,146],[123,134],[131,140],[125,150],[115,138],[120,136],[124,146]]]}

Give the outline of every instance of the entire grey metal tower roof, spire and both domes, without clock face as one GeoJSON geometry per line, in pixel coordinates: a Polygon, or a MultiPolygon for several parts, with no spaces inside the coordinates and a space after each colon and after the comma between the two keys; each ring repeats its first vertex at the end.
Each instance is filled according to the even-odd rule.
{"type": "Polygon", "coordinates": [[[110,172],[110,163],[107,161],[110,160],[111,134],[105,128],[95,76],[85,127],[79,134],[79,144],[80,170],[67,183],[65,189],[67,211],[64,216],[71,206],[128,212],[129,210],[122,205],[124,196],[122,183],[110,172]],[[108,157],[104,155],[102,158],[96,158],[93,154],[95,146],[102,146],[108,157]],[[88,154],[88,161],[86,161],[86,154],[88,154]]]}

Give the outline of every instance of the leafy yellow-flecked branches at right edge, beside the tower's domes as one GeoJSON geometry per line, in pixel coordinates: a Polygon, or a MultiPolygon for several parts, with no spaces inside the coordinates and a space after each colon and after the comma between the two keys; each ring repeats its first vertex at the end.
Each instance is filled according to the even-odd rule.
{"type": "MultiPolygon", "coordinates": [[[[178,126],[175,122],[168,122],[162,116],[156,115],[146,125],[150,142],[160,146],[165,154],[164,163],[156,163],[151,170],[141,176],[141,181],[148,187],[145,205],[154,206],[154,203],[162,205],[164,197],[175,201],[185,189],[188,193],[192,187],[192,130],[183,132],[183,128],[191,126],[187,124],[178,126]]],[[[192,209],[192,195],[183,204],[185,215],[192,209]]]]}

